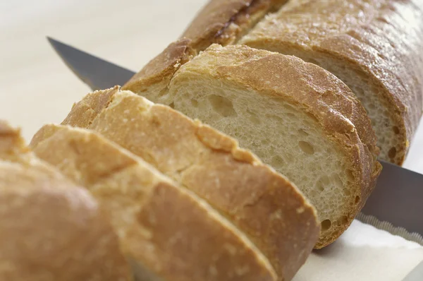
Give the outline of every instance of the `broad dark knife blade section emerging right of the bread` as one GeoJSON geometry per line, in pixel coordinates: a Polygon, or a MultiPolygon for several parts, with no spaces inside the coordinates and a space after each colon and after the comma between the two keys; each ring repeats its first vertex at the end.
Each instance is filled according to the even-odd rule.
{"type": "Polygon", "coordinates": [[[380,162],[384,168],[362,213],[423,236],[423,174],[380,162]]]}

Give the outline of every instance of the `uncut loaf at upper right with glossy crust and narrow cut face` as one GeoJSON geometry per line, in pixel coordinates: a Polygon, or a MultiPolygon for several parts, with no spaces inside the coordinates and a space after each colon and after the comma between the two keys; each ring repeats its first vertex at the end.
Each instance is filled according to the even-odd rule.
{"type": "Polygon", "coordinates": [[[401,165],[422,116],[423,1],[289,1],[240,44],[298,56],[341,78],[401,165]]]}

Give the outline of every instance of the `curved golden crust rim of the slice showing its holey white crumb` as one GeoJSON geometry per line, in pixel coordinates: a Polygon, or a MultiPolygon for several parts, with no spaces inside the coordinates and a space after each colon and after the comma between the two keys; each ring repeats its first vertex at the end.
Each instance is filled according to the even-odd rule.
{"type": "Polygon", "coordinates": [[[357,196],[357,202],[352,207],[345,206],[349,210],[348,220],[330,237],[321,237],[317,247],[338,238],[364,205],[381,172],[381,165],[376,161],[379,150],[370,120],[349,88],[319,66],[307,64],[294,56],[246,46],[214,44],[180,68],[174,81],[184,72],[202,73],[213,79],[231,81],[240,88],[254,89],[262,95],[283,97],[299,104],[312,119],[316,119],[333,143],[350,157],[350,169],[357,175],[352,187],[352,198],[355,201],[354,196],[357,196]],[[204,61],[212,61],[212,66],[204,66],[204,61]]]}

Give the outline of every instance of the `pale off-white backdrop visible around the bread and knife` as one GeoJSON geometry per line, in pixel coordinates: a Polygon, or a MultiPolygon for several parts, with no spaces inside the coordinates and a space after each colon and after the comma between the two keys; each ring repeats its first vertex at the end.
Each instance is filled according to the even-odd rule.
{"type": "MultiPolygon", "coordinates": [[[[47,35],[137,71],[205,2],[0,0],[0,118],[21,126],[29,140],[89,92],[47,35]]],[[[423,173],[423,122],[405,167],[423,173]]],[[[421,247],[356,221],[336,244],[313,253],[296,280],[400,280],[422,259],[421,247]]]]}

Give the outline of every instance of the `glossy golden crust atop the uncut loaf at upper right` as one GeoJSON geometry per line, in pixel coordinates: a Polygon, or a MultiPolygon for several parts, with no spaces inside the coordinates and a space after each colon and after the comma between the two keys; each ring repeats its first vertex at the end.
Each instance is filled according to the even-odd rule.
{"type": "Polygon", "coordinates": [[[289,1],[240,43],[312,49],[345,61],[386,100],[407,150],[422,116],[422,18],[419,0],[289,1]]]}

